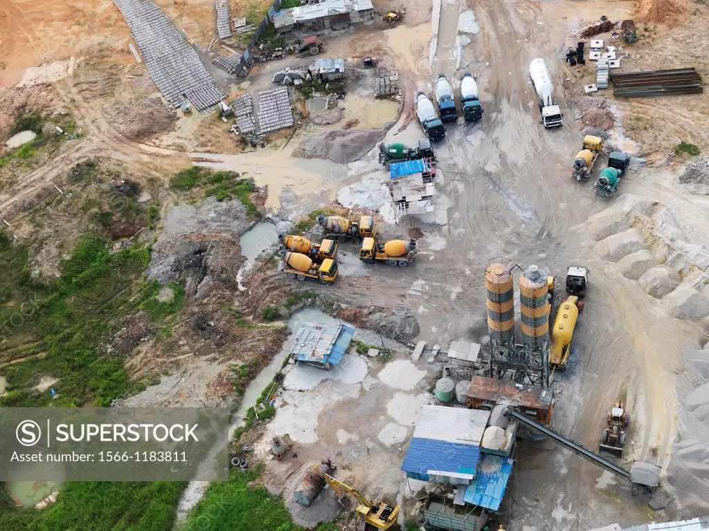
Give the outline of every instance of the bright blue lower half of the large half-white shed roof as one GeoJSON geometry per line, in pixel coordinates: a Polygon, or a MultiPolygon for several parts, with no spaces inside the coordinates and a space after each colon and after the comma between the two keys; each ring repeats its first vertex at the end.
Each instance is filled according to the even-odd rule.
{"type": "MultiPolygon", "coordinates": [[[[452,408],[450,408],[452,409],[452,408]]],[[[480,457],[480,449],[474,445],[454,444],[445,440],[413,438],[403,459],[401,469],[404,472],[425,476],[429,481],[429,472],[443,475],[441,472],[455,472],[471,479],[480,457]]],[[[461,477],[462,483],[467,483],[461,477]]]]}

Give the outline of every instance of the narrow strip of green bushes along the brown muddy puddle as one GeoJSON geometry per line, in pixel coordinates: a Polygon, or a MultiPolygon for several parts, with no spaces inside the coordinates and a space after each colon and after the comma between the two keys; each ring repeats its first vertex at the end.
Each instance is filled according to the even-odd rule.
{"type": "Polygon", "coordinates": [[[177,173],[170,185],[175,190],[205,188],[204,197],[213,195],[218,201],[235,198],[246,207],[248,215],[253,217],[260,215],[259,209],[250,197],[256,191],[253,181],[241,179],[239,174],[233,171],[208,171],[193,166],[177,173]]]}

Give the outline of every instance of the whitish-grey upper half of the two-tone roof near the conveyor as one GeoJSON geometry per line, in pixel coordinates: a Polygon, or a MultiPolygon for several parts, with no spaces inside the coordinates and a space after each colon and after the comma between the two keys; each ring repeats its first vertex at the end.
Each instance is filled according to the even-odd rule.
{"type": "Polygon", "coordinates": [[[423,406],[413,436],[477,447],[489,417],[486,409],[423,406]]]}

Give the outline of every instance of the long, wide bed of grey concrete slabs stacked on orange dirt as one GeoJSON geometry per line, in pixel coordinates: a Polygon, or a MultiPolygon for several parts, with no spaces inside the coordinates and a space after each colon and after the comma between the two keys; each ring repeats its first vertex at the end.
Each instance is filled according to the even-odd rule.
{"type": "Polygon", "coordinates": [[[185,98],[198,110],[226,98],[224,90],[214,81],[182,33],[152,1],[113,2],[133,33],[152,80],[174,108],[182,105],[185,98]]]}

